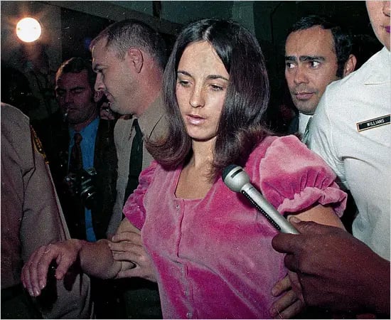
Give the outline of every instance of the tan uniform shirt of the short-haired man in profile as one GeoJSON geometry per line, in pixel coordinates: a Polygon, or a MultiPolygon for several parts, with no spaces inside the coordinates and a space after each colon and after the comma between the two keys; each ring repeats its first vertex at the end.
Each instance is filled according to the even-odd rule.
{"type": "MultiPolygon", "coordinates": [[[[166,132],[167,120],[164,114],[164,102],[159,95],[148,109],[146,109],[144,114],[141,114],[138,118],[139,126],[143,133],[143,141],[146,138],[155,139],[166,132]]],[[[107,235],[114,235],[123,217],[122,208],[124,206],[125,188],[127,187],[129,176],[129,159],[133,138],[136,134],[135,130],[132,130],[133,121],[133,118],[119,118],[114,127],[114,142],[118,157],[117,198],[114,203],[112,218],[107,228],[107,235]]],[[[143,143],[142,169],[149,166],[152,160],[153,157],[146,150],[145,144],[143,143]]]]}

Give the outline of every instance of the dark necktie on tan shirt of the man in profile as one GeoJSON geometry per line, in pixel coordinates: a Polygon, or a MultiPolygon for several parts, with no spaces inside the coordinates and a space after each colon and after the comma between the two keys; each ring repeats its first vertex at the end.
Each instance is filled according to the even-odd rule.
{"type": "Polygon", "coordinates": [[[130,194],[134,191],[135,188],[137,188],[139,184],[139,174],[141,172],[143,163],[142,132],[137,119],[134,119],[132,128],[136,131],[136,135],[133,138],[132,149],[130,151],[129,176],[127,188],[125,189],[124,204],[127,202],[127,198],[129,198],[130,194]]]}

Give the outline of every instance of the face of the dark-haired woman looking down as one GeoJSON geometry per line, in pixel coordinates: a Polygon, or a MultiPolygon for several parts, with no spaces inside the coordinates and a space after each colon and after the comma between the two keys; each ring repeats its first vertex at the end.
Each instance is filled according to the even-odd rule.
{"type": "Polygon", "coordinates": [[[230,75],[208,41],[189,44],[178,64],[176,100],[188,135],[215,138],[230,75]]]}

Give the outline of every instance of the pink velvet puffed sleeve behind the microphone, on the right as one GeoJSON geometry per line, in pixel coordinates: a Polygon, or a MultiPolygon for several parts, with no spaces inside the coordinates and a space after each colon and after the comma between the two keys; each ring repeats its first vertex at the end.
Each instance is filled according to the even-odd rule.
{"type": "Polygon", "coordinates": [[[320,156],[297,137],[274,139],[259,164],[260,188],[279,213],[297,213],[321,204],[330,205],[341,217],[346,193],[336,174],[320,156]]]}

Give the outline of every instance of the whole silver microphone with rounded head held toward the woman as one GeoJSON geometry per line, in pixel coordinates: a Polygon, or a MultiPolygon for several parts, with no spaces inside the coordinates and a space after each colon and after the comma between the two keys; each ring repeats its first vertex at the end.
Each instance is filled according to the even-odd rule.
{"type": "Polygon", "coordinates": [[[223,181],[232,191],[242,193],[272,223],[274,228],[282,233],[299,234],[299,231],[257,191],[255,186],[252,186],[250,177],[241,166],[236,164],[227,166],[223,171],[223,181]]]}

